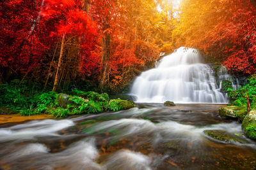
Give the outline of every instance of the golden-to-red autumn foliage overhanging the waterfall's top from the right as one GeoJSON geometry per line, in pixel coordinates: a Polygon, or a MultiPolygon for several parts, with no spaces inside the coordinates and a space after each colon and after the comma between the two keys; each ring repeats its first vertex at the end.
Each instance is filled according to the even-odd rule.
{"type": "Polygon", "coordinates": [[[230,71],[253,74],[255,11],[250,1],[184,0],[173,31],[175,46],[198,48],[230,71]]]}

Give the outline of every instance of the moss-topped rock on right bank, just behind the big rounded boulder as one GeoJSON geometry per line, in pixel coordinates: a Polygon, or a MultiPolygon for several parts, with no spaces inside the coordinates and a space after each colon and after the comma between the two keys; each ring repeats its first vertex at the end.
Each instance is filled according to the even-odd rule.
{"type": "Polygon", "coordinates": [[[219,108],[219,115],[221,118],[237,118],[237,112],[243,110],[243,107],[226,106],[219,108]]]}

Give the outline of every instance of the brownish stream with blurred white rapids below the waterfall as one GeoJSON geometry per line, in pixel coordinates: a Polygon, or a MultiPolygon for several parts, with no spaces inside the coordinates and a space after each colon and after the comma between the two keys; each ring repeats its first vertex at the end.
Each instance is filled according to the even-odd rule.
{"type": "Polygon", "coordinates": [[[0,125],[0,169],[254,169],[256,143],[212,104],[138,108],[0,125]],[[243,138],[223,143],[204,130],[243,138]]]}

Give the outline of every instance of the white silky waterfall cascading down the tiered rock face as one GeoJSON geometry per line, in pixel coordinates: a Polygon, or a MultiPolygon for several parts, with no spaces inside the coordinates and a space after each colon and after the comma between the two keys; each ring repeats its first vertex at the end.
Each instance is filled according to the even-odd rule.
{"type": "Polygon", "coordinates": [[[180,47],[157,67],[143,72],[132,85],[138,103],[227,103],[216,84],[214,71],[202,64],[200,52],[180,47]]]}

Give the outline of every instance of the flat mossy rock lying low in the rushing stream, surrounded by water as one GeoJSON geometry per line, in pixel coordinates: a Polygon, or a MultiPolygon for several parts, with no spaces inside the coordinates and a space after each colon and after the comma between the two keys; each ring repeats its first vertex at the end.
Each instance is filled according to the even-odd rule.
{"type": "Polygon", "coordinates": [[[210,137],[210,139],[215,139],[224,143],[248,143],[246,139],[243,139],[242,134],[231,134],[221,130],[205,130],[204,133],[210,137]]]}

